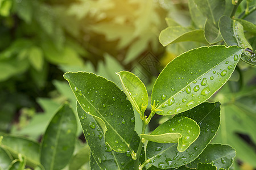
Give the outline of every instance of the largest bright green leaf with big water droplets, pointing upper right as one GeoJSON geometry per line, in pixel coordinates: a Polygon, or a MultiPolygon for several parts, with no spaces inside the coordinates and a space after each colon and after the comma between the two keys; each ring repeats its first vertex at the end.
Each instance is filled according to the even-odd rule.
{"type": "Polygon", "coordinates": [[[242,49],[223,45],[190,50],[172,60],[156,79],[151,103],[162,115],[187,111],[209,99],[224,83],[239,61],[242,49]]]}

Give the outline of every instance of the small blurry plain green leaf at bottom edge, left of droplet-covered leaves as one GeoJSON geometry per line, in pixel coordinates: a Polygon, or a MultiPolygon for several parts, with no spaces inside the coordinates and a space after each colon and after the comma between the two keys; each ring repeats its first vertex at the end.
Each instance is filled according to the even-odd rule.
{"type": "Polygon", "coordinates": [[[89,162],[90,148],[88,145],[82,147],[76,155],[74,155],[69,163],[69,169],[79,170],[82,165],[89,162]]]}

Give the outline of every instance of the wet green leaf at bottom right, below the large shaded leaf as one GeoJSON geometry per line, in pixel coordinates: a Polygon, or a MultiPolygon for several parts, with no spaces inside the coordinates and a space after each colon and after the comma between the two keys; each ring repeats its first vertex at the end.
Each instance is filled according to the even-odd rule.
{"type": "Polygon", "coordinates": [[[210,143],[196,160],[187,164],[187,167],[197,168],[198,163],[211,163],[218,169],[229,169],[235,156],[236,151],[231,146],[210,143]]]}

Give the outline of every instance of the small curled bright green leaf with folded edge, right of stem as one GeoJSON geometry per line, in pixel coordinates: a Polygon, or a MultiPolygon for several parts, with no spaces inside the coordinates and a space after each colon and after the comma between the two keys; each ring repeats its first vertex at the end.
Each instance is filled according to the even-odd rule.
{"type": "Polygon", "coordinates": [[[184,152],[199,134],[200,127],[191,118],[174,117],[158,126],[150,135],[142,134],[141,137],[158,143],[178,143],[177,150],[184,152]]]}

